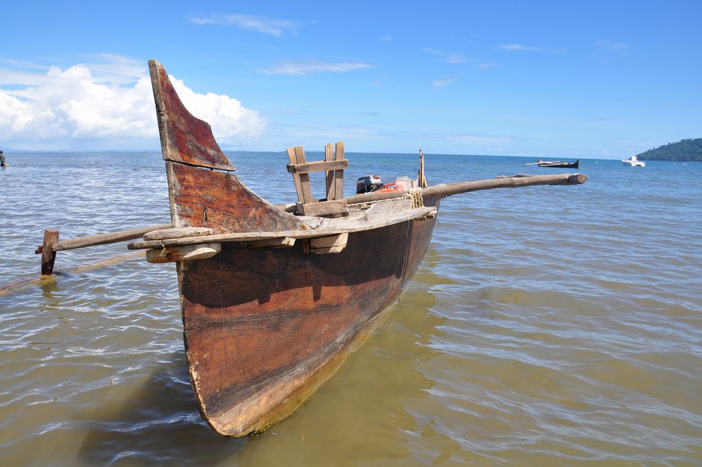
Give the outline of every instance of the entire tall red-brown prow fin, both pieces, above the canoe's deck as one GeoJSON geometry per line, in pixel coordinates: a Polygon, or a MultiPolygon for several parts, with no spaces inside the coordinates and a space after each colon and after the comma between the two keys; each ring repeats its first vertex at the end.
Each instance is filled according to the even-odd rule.
{"type": "Polygon", "coordinates": [[[149,71],[173,227],[205,227],[216,234],[301,228],[295,216],[256,195],[231,173],[234,166],[210,125],[188,112],[164,67],[150,60],[149,71]]]}

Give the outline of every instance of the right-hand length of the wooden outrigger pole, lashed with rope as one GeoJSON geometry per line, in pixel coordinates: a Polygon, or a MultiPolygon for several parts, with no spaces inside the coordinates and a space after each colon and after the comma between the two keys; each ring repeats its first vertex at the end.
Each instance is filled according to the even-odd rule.
{"type": "MultiPolygon", "coordinates": [[[[475,180],[472,182],[449,183],[447,185],[435,185],[428,188],[421,188],[422,197],[447,197],[451,195],[459,195],[478,190],[491,190],[493,188],[519,188],[530,187],[534,185],[582,185],[588,180],[588,176],[584,173],[557,173],[555,175],[535,175],[527,177],[505,177],[505,178],[490,178],[488,180],[475,180]]],[[[364,193],[347,197],[347,204],[364,203],[371,201],[381,201],[383,199],[397,198],[406,195],[409,191],[404,192],[385,192],[385,193],[364,193]]]]}

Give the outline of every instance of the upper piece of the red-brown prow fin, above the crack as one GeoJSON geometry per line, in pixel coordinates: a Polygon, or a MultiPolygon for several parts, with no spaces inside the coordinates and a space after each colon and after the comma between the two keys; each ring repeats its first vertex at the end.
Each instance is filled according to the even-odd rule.
{"type": "Polygon", "coordinates": [[[234,170],[212,135],[210,125],[194,117],[180,101],[164,67],[156,60],[149,60],[149,72],[164,160],[234,170]]]}

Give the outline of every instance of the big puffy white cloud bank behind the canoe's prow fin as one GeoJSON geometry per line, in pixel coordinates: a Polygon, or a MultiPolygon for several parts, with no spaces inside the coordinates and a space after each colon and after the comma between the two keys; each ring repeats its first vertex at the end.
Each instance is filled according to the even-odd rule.
{"type": "MultiPolygon", "coordinates": [[[[153,94],[142,61],[101,55],[95,63],[65,69],[14,65],[0,67],[0,141],[6,147],[157,147],[153,94]]],[[[258,112],[239,100],[194,93],[171,79],[190,112],[211,124],[220,145],[248,143],[265,130],[258,112]]]]}

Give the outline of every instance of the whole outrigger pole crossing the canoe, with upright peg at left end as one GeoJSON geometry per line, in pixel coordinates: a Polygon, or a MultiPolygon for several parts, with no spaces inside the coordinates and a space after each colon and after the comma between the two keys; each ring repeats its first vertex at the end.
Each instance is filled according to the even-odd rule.
{"type": "MultiPolygon", "coordinates": [[[[423,172],[423,171],[422,171],[423,172]]],[[[424,174],[421,173],[423,176],[424,174]]],[[[449,183],[446,185],[435,185],[427,188],[420,188],[422,197],[447,197],[467,193],[478,190],[491,190],[493,188],[520,188],[534,185],[581,185],[588,180],[584,173],[557,173],[555,175],[539,175],[539,176],[513,176],[503,178],[490,178],[488,180],[475,180],[472,182],[449,183]]],[[[403,192],[384,192],[384,193],[364,193],[347,197],[347,204],[357,204],[373,201],[381,201],[383,199],[392,199],[402,197],[409,191],[403,192]]],[[[153,230],[161,230],[172,228],[173,225],[160,224],[150,227],[143,227],[131,230],[121,230],[120,232],[112,232],[100,235],[91,235],[90,237],[81,237],[77,239],[58,240],[57,229],[44,230],[44,244],[34,251],[36,254],[41,254],[41,274],[51,275],[53,273],[53,263],[56,258],[57,251],[72,250],[84,248],[86,246],[104,245],[117,242],[126,242],[128,240],[142,237],[153,230]]]]}

